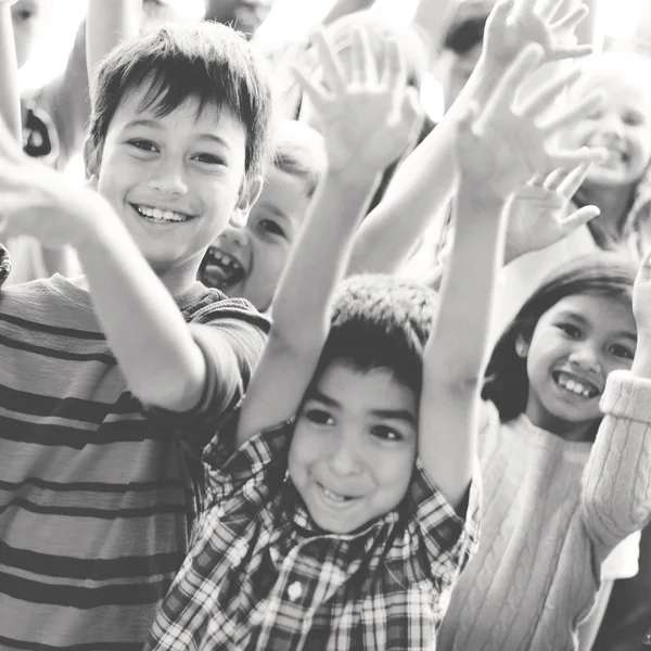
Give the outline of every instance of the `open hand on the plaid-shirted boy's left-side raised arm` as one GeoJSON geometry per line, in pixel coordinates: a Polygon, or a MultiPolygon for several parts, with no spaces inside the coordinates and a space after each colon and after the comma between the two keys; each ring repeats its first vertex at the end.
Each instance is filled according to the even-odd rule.
{"type": "Polygon", "coordinates": [[[330,169],[365,177],[382,171],[404,154],[423,118],[397,43],[386,42],[383,69],[378,69],[366,34],[355,31],[348,80],[323,30],[314,40],[322,81],[299,68],[295,74],[317,111],[330,169]]]}

